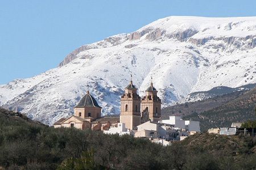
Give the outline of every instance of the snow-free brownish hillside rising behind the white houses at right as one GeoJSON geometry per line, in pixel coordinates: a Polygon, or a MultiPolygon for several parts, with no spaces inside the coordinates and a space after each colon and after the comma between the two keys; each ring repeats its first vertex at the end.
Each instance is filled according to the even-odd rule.
{"type": "Polygon", "coordinates": [[[201,131],[229,127],[232,122],[255,120],[256,88],[234,92],[212,99],[184,103],[163,109],[162,117],[183,116],[184,120],[200,121],[201,131]]]}

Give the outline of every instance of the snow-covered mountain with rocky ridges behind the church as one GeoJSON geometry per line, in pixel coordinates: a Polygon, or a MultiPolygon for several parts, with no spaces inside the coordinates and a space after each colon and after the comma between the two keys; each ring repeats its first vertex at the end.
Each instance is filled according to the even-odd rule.
{"type": "Polygon", "coordinates": [[[166,107],[192,92],[256,83],[255,46],[256,17],[171,16],[83,45],[55,69],[1,85],[0,105],[51,125],[73,113],[88,83],[103,114],[119,114],[133,74],[140,95],[152,76],[166,107]]]}

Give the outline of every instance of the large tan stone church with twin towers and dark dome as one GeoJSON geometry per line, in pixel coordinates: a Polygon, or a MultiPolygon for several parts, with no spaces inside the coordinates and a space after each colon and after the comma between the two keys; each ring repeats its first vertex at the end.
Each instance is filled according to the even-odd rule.
{"type": "Polygon", "coordinates": [[[68,118],[60,118],[53,126],[55,128],[78,128],[108,130],[110,126],[117,126],[118,122],[125,124],[125,128],[134,130],[138,125],[147,121],[158,122],[161,117],[161,100],[158,91],[153,86],[152,78],[150,86],[145,91],[146,96],[139,96],[133,80],[125,88],[121,96],[120,117],[101,117],[101,107],[96,99],[86,92],[85,96],[74,107],[74,115],[68,118]]]}

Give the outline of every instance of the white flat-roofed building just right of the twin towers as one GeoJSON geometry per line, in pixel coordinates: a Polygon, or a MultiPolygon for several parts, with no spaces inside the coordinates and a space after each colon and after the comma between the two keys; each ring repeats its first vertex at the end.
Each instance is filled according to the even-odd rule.
{"type": "Polygon", "coordinates": [[[180,116],[170,116],[169,119],[160,122],[162,124],[174,125],[175,128],[185,129],[188,132],[200,131],[199,121],[182,120],[180,116]]]}

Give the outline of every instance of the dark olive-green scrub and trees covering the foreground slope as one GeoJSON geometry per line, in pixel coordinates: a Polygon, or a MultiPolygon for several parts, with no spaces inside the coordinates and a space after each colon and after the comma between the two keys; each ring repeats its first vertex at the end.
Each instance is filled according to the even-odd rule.
{"type": "Polygon", "coordinates": [[[163,147],[148,139],[54,129],[0,110],[0,169],[255,169],[256,138],[195,134],[163,147]]]}

